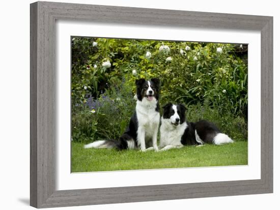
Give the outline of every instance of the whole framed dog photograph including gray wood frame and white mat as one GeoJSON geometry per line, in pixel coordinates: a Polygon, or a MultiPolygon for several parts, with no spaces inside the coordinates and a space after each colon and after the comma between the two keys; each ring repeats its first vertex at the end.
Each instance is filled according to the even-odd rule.
{"type": "Polygon", "coordinates": [[[31,4],[31,205],[272,193],[272,44],[267,16],[31,4]]]}

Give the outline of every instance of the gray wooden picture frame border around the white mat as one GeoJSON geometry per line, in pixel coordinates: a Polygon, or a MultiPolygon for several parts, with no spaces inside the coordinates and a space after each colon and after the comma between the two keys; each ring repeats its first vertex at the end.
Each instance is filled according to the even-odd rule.
{"type": "Polygon", "coordinates": [[[30,15],[32,206],[44,208],[273,192],[273,17],[52,2],[31,4],[30,15]],[[56,191],[55,20],[260,31],[261,179],[56,191]]]}

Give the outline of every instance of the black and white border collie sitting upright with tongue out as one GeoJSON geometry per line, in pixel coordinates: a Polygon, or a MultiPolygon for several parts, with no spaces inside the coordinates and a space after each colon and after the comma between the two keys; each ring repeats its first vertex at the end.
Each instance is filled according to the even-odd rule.
{"type": "Polygon", "coordinates": [[[160,121],[159,115],[159,80],[144,78],[136,80],[137,90],[136,109],[130,118],[125,133],[116,140],[100,140],[85,145],[85,148],[117,148],[123,149],[149,149],[158,150],[157,133],[160,121]]]}

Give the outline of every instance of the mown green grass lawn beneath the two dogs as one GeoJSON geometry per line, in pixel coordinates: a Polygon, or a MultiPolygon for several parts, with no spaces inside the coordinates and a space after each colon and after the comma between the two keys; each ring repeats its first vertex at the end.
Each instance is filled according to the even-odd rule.
{"type": "Polygon", "coordinates": [[[163,152],[84,149],[71,142],[71,172],[247,165],[247,141],[227,145],[185,146],[163,152]]]}

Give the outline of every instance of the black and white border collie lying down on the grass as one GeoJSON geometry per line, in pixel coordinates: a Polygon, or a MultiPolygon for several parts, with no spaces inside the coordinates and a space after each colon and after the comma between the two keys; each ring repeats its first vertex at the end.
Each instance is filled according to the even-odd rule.
{"type": "Polygon", "coordinates": [[[232,143],[233,140],[222,134],[212,122],[201,120],[187,122],[186,108],[182,104],[167,103],[163,107],[163,116],[160,126],[160,151],[181,148],[183,145],[216,145],[232,143]]]}

